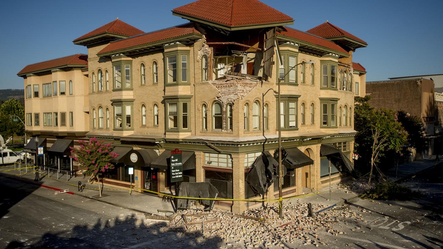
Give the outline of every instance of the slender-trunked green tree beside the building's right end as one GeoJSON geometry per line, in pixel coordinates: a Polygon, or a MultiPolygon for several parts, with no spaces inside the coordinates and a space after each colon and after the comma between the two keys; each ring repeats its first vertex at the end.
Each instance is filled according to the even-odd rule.
{"type": "Polygon", "coordinates": [[[354,127],[358,131],[355,136],[358,154],[364,153],[366,160],[370,157],[370,183],[379,158],[388,150],[400,152],[401,147],[407,143],[408,134],[397,121],[394,111],[376,110],[368,104],[369,99],[370,96],[355,97],[354,127]]]}

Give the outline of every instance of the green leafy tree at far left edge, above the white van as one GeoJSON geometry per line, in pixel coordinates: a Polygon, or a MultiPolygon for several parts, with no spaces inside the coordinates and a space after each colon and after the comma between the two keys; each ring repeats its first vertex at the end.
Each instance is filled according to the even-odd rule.
{"type": "Polygon", "coordinates": [[[14,135],[23,136],[25,128],[22,122],[12,121],[12,115],[17,115],[24,122],[25,109],[23,105],[14,98],[4,101],[0,106],[1,135],[5,137],[14,135]]]}

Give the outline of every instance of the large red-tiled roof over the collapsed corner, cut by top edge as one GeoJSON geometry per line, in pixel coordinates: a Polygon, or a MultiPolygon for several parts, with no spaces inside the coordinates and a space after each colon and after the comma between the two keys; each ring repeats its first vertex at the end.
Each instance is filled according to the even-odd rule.
{"type": "Polygon", "coordinates": [[[228,27],[294,21],[258,0],[198,0],[172,12],[228,27]]]}

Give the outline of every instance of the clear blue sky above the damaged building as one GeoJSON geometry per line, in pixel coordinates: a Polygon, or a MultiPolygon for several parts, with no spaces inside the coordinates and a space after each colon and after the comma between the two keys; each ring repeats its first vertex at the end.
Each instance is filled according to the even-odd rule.
{"type": "MultiPolygon", "coordinates": [[[[0,89],[23,89],[16,74],[35,62],[86,53],[72,40],[117,17],[145,32],[186,23],[172,16],[192,0],[169,1],[6,1],[0,10],[0,89]]],[[[326,20],[369,45],[354,62],[365,66],[367,81],[443,74],[442,0],[294,1],[262,0],[295,19],[306,31],[326,20]]]]}

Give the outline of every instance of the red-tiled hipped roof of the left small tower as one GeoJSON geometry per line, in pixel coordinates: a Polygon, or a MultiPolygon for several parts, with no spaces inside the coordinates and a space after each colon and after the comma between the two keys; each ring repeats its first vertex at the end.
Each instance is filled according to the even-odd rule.
{"type": "Polygon", "coordinates": [[[132,27],[128,23],[125,23],[119,19],[113,20],[110,23],[106,23],[105,25],[94,29],[93,31],[87,33],[86,35],[82,35],[79,38],[75,39],[73,42],[94,36],[94,35],[101,35],[105,33],[111,33],[111,34],[117,34],[117,35],[126,35],[126,36],[133,36],[133,35],[140,35],[143,34],[144,31],[141,31],[140,29],[136,27],[132,27]]]}

